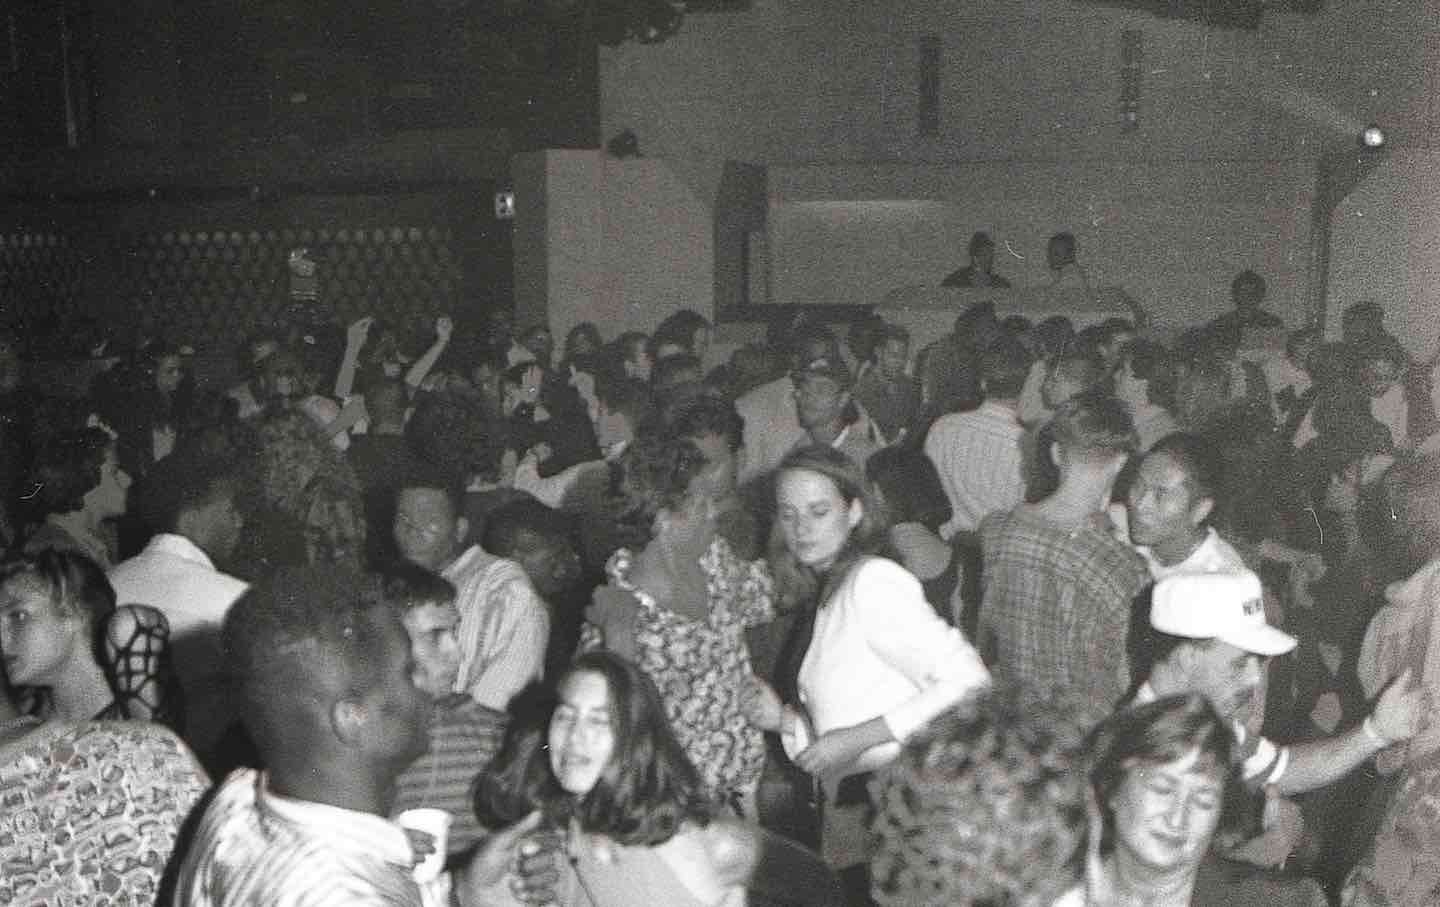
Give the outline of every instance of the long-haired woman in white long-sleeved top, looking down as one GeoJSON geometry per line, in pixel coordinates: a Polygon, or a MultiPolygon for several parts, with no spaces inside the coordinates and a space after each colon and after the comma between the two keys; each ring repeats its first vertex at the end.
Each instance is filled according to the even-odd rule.
{"type": "Polygon", "coordinates": [[[750,717],[779,731],[795,764],[824,786],[822,847],[837,868],[868,859],[864,847],[841,847],[851,839],[844,835],[844,816],[854,813],[850,831],[857,831],[867,806],[863,782],[868,773],[893,760],[906,737],[989,680],[960,631],[924,600],[920,580],[881,556],[887,528],[864,472],[842,454],[812,446],[780,462],[779,544],[770,564],[792,600],[815,603],[814,628],[809,621],[796,628],[801,636],[793,651],[804,652],[804,659],[798,659],[792,701],[782,703],[775,690],[756,681],[750,717]]]}

